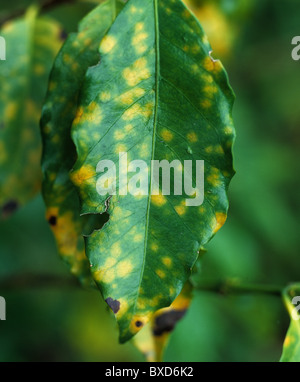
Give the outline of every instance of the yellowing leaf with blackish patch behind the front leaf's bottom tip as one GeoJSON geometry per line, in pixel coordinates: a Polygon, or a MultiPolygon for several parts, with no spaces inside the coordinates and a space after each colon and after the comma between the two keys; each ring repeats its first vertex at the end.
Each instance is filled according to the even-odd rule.
{"type": "Polygon", "coordinates": [[[170,334],[186,314],[192,300],[192,285],[187,282],[169,308],[158,310],[134,338],[133,343],[148,362],[162,362],[170,334]]]}

